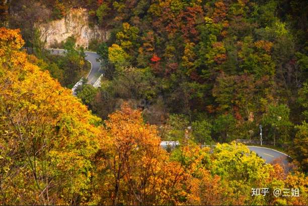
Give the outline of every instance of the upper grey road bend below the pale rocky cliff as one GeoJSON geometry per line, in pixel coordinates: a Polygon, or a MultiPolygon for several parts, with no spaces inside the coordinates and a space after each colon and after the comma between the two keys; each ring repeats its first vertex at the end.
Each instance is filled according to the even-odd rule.
{"type": "MultiPolygon", "coordinates": [[[[52,54],[59,54],[59,55],[63,54],[65,51],[64,49],[52,49],[52,48],[50,49],[48,48],[48,50],[50,50],[52,54]]],[[[100,71],[101,62],[98,60],[100,55],[92,51],[85,51],[85,53],[86,53],[86,60],[91,62],[91,70],[87,76],[88,78],[87,84],[93,86],[102,74],[102,71],[100,71]]]]}

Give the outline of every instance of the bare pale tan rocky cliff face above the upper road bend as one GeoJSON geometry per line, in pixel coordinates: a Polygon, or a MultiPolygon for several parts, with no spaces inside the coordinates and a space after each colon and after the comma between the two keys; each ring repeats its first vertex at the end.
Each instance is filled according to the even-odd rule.
{"type": "Polygon", "coordinates": [[[46,46],[50,47],[55,43],[65,41],[69,36],[76,38],[77,45],[87,46],[87,42],[92,39],[106,41],[109,32],[100,29],[98,26],[89,27],[89,16],[86,9],[71,9],[63,19],[42,24],[41,38],[46,41],[46,46]]]}

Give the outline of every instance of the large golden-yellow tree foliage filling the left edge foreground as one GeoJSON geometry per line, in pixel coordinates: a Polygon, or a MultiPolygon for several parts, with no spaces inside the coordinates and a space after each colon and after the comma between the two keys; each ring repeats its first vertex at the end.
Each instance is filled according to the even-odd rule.
{"type": "Polygon", "coordinates": [[[0,28],[0,204],[81,204],[102,130],[71,91],[27,61],[0,28]]]}

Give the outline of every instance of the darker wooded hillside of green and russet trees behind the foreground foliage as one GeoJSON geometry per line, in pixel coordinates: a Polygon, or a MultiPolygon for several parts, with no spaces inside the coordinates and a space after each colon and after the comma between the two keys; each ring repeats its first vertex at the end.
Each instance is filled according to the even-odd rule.
{"type": "Polygon", "coordinates": [[[97,116],[106,119],[129,102],[163,140],[178,140],[191,126],[198,144],[257,141],[262,124],[263,141],[307,171],[304,1],[7,2],[2,24],[20,28],[25,46],[46,62],[40,66],[68,88],[87,74],[76,52],[82,48],[70,37],[54,45],[67,48],[65,56],[46,55],[44,31],[35,25],[78,7],[87,9],[90,26],[110,33],[88,45],[101,55],[101,88],[84,86],[78,95],[97,116]]]}

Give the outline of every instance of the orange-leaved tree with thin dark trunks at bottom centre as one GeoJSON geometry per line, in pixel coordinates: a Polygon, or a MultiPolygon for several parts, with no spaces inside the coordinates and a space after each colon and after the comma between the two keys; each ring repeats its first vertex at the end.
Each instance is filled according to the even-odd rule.
{"type": "Polygon", "coordinates": [[[93,203],[176,204],[186,176],[161,148],[156,127],[126,104],[105,124],[108,137],[97,156],[101,173],[93,203]]]}

